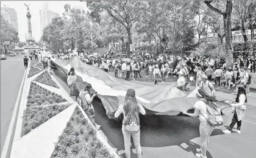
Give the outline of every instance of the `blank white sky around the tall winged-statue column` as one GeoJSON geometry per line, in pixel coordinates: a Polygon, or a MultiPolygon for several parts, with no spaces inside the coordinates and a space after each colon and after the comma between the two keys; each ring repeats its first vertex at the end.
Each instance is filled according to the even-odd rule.
{"type": "Polygon", "coordinates": [[[70,4],[71,8],[76,5],[81,5],[86,8],[86,3],[80,1],[1,1],[1,7],[7,5],[7,7],[15,9],[17,12],[19,30],[18,33],[20,41],[26,41],[25,33],[27,33],[27,7],[23,3],[29,5],[29,12],[31,14],[32,36],[34,37],[35,41],[39,41],[41,38],[39,10],[42,9],[42,4],[44,2],[48,2],[49,10],[59,13],[60,16],[62,16],[62,13],[65,12],[65,4],[70,4]]]}

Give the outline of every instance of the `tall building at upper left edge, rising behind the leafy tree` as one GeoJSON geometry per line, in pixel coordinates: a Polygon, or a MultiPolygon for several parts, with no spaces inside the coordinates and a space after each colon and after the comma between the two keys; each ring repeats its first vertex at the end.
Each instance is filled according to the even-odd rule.
{"type": "Polygon", "coordinates": [[[17,12],[15,11],[15,9],[10,9],[6,5],[4,5],[4,7],[1,7],[1,15],[5,21],[9,22],[9,24],[14,27],[16,32],[19,32],[17,12]]]}

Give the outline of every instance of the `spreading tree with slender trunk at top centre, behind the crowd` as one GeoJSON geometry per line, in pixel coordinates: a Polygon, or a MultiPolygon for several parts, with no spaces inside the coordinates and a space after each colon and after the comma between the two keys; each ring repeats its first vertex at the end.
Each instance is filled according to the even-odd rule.
{"type": "Polygon", "coordinates": [[[90,10],[103,10],[118,21],[127,31],[127,55],[130,56],[132,44],[130,30],[134,22],[144,17],[148,10],[148,2],[144,1],[87,1],[90,10]]]}

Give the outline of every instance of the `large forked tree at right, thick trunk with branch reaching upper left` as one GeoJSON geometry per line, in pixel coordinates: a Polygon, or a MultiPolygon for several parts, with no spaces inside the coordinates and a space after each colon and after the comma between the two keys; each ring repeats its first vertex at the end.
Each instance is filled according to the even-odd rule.
{"type": "Polygon", "coordinates": [[[211,4],[213,1],[204,1],[205,4],[212,9],[214,12],[219,13],[223,17],[224,30],[226,35],[226,53],[227,53],[227,67],[232,66],[233,64],[233,46],[232,46],[232,30],[231,30],[231,13],[232,13],[232,1],[227,1],[226,10],[222,10],[213,7],[211,4]]]}

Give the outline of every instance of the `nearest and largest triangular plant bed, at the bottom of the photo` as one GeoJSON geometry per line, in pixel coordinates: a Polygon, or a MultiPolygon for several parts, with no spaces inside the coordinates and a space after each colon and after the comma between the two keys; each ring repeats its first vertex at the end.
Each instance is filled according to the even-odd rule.
{"type": "Polygon", "coordinates": [[[114,156],[97,138],[96,131],[76,107],[62,136],[55,143],[51,158],[55,157],[113,158],[114,156]]]}

